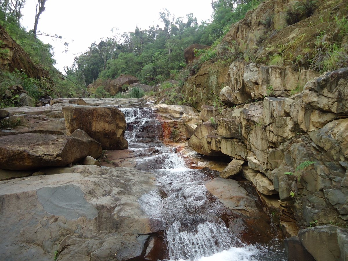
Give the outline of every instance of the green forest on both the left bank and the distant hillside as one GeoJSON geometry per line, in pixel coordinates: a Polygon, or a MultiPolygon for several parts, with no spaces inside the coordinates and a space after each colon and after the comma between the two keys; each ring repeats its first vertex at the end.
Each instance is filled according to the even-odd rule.
{"type": "MultiPolygon", "coordinates": [[[[75,57],[73,64],[64,68],[64,76],[54,68],[52,46],[36,38],[38,15],[45,10],[45,2],[38,1],[34,29],[27,32],[20,24],[25,1],[0,0],[0,25],[29,54],[35,64],[49,72],[48,78],[36,79],[28,77],[25,71],[2,71],[0,96],[5,93],[6,86],[15,84],[21,84],[37,99],[45,94],[53,97],[90,96],[87,86],[93,81],[114,79],[121,74],[136,76],[148,85],[177,79],[186,66],[183,56],[186,47],[193,43],[215,47],[229,26],[243,18],[246,11],[257,6],[260,1],[212,1],[211,21],[198,22],[193,13],[186,17],[175,17],[164,9],[159,13],[163,28],[157,25],[143,30],[136,26],[134,32],[121,33],[115,27],[112,29],[112,37],[92,43],[82,55],[75,57]]],[[[61,38],[59,35],[51,37],[61,38]]],[[[6,49],[1,52],[6,57],[6,49]]],[[[108,95],[101,89],[97,92],[92,93],[92,97],[108,95]]],[[[15,104],[16,98],[13,98],[2,104],[2,107],[15,104]]]]}

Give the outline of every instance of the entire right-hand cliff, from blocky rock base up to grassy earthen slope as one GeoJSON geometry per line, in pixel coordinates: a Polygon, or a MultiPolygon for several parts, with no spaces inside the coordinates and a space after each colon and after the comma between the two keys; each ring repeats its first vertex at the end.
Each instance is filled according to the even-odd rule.
{"type": "Polygon", "coordinates": [[[288,235],[297,233],[294,223],[348,224],[348,68],[320,73],[318,57],[308,58],[324,55],[318,48],[325,43],[347,48],[337,22],[347,10],[342,1],[317,1],[313,15],[287,26],[293,2],[266,1],[249,11],[221,41],[237,44],[243,58],[204,63],[182,91],[196,97],[206,121],[189,145],[203,155],[230,156],[224,175],[242,169],[288,235]],[[267,65],[273,55],[282,63],[267,65]],[[216,96],[223,108],[216,108],[222,104],[216,96]]]}

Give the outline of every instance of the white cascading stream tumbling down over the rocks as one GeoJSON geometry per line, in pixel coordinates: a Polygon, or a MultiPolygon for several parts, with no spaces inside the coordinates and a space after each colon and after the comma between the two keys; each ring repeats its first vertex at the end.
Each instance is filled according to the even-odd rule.
{"type": "Polygon", "coordinates": [[[166,260],[282,261],[282,240],[248,245],[223,220],[226,207],[205,183],[219,176],[210,169],[190,169],[183,158],[160,140],[160,124],[149,108],[121,109],[129,149],[155,147],[151,157],[137,160],[137,169],[156,174],[161,195],[144,195],[143,210],[164,224],[166,260]]]}

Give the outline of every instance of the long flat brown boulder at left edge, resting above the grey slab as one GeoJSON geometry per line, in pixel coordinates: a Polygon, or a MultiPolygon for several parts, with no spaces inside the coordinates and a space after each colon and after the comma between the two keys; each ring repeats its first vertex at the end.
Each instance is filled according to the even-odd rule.
{"type": "Polygon", "coordinates": [[[2,169],[65,166],[88,155],[88,143],[66,135],[24,133],[0,137],[2,169]]]}

